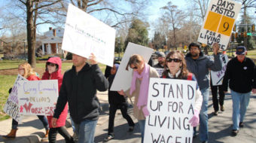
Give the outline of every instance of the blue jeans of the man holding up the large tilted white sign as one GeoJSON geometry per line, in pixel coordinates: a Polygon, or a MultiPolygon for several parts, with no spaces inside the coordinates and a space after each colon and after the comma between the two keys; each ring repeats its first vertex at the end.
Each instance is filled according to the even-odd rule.
{"type": "Polygon", "coordinates": [[[75,133],[78,135],[78,143],[94,143],[94,133],[98,120],[84,120],[75,125],[75,133]]]}

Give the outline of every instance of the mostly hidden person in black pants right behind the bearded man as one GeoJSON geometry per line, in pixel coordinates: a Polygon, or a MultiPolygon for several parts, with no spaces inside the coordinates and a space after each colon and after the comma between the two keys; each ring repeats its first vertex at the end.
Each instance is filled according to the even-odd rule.
{"type": "MultiPolygon", "coordinates": [[[[223,56],[223,58],[221,60],[226,60],[226,59],[223,56]]],[[[224,62],[227,62],[227,61],[224,61],[224,62]]],[[[222,72],[222,71],[220,71],[220,72],[222,72]]],[[[218,110],[219,110],[218,104],[220,104],[220,106],[221,106],[221,111],[224,111],[225,93],[224,93],[224,89],[223,89],[223,86],[222,86],[222,81],[221,81],[220,85],[212,85],[212,80],[213,79],[212,79],[212,75],[211,75],[210,86],[211,86],[211,91],[212,91],[212,104],[213,104],[213,108],[215,110],[213,112],[213,114],[215,116],[217,116],[218,115],[218,110]],[[218,98],[218,95],[219,95],[219,98],[218,98]]]]}

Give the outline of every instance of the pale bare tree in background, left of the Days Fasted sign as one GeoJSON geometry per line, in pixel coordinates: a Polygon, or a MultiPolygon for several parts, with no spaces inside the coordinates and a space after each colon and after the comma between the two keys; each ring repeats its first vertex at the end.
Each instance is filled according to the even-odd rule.
{"type": "Polygon", "coordinates": [[[167,5],[161,9],[163,9],[164,11],[162,20],[170,24],[170,31],[172,33],[169,35],[168,41],[171,40],[172,46],[174,46],[175,49],[177,49],[175,32],[180,28],[179,25],[181,21],[185,18],[184,12],[178,10],[177,5],[172,5],[172,2],[168,2],[167,5]]]}

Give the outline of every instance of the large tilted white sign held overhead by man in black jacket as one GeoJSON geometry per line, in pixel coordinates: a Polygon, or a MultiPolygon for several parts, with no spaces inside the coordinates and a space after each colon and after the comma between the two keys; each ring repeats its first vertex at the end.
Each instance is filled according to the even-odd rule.
{"type": "Polygon", "coordinates": [[[98,62],[113,66],[114,41],[115,29],[69,4],[62,50],[86,58],[93,53],[98,62]]]}

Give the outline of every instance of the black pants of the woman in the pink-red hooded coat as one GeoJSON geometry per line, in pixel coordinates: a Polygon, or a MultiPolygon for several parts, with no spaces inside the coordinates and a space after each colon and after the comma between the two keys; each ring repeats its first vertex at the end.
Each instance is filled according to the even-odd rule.
{"type": "Polygon", "coordinates": [[[56,142],[56,135],[58,132],[60,135],[62,135],[63,138],[65,138],[65,141],[67,143],[74,143],[72,136],[69,135],[69,132],[66,130],[65,126],[60,126],[58,128],[50,128],[49,136],[48,136],[49,143],[56,142]]]}

